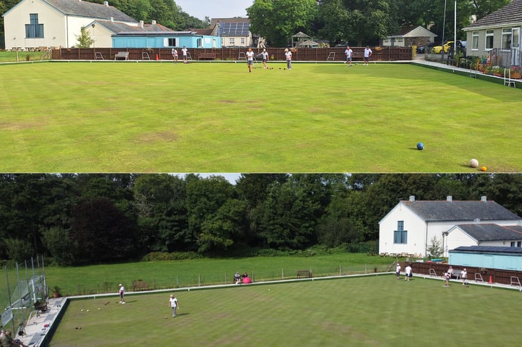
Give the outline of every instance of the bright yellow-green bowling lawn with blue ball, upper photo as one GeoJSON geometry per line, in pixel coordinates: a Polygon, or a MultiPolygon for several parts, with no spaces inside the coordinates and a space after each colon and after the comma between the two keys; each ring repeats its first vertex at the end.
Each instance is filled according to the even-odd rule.
{"type": "Polygon", "coordinates": [[[519,90],[412,65],[271,66],[0,66],[0,171],[522,171],[519,90]]]}

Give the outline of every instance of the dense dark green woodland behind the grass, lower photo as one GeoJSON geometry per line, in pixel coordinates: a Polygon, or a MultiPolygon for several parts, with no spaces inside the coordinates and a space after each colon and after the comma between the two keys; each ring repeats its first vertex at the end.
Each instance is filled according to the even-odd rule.
{"type": "MultiPolygon", "coordinates": [[[[3,174],[0,258],[98,264],[378,239],[401,200],[487,196],[522,215],[519,174],[3,174]]],[[[239,253],[238,253],[239,252],[239,253]]]]}

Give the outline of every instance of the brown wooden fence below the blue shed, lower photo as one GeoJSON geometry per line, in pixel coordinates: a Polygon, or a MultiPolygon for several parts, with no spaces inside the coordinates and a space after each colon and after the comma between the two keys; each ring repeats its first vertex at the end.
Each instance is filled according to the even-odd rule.
{"type": "MultiPolygon", "coordinates": [[[[448,267],[450,264],[443,264],[440,262],[404,262],[401,264],[402,269],[405,268],[406,264],[410,264],[412,266],[412,271],[415,273],[420,273],[422,275],[430,275],[430,269],[434,269],[437,276],[443,276],[446,271],[448,271],[448,267]]],[[[491,276],[491,281],[494,283],[500,283],[503,285],[511,284],[511,277],[517,277],[519,280],[522,279],[522,271],[510,271],[510,270],[500,270],[500,269],[485,269],[474,266],[453,266],[454,270],[462,270],[466,268],[468,273],[468,282],[475,281],[475,273],[480,273],[482,280],[484,282],[489,282],[489,276],[491,276]]],[[[522,282],[522,281],[521,281],[522,282]]]]}

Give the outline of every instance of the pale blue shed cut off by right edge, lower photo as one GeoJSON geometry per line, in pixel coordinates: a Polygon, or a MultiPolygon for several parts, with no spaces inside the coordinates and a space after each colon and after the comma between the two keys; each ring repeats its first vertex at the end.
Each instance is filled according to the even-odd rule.
{"type": "Polygon", "coordinates": [[[522,248],[501,246],[461,246],[449,251],[452,265],[522,271],[522,248]]]}

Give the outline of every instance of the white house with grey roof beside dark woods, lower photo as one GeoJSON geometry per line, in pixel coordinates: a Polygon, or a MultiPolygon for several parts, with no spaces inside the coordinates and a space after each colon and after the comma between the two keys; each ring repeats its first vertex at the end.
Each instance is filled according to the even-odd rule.
{"type": "MultiPolygon", "coordinates": [[[[442,243],[446,251],[458,246],[471,246],[473,242],[460,239],[455,232],[453,246],[447,245],[446,235],[454,226],[487,223],[498,226],[520,226],[521,217],[482,196],[480,201],[400,201],[379,221],[379,253],[414,254],[426,257],[433,237],[442,243]],[[464,241],[462,241],[464,240],[464,241]],[[462,242],[461,242],[462,241],[462,242]]],[[[476,243],[475,243],[476,244],[476,243]]]]}

